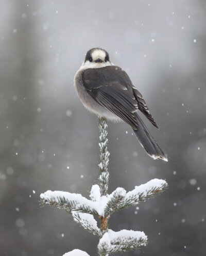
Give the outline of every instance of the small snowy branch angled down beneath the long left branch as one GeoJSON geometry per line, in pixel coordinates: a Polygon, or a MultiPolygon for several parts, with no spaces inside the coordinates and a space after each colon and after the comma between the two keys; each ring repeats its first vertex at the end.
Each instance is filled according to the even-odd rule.
{"type": "Polygon", "coordinates": [[[99,228],[97,227],[97,221],[93,215],[88,213],[72,212],[74,221],[76,221],[82,228],[99,236],[99,228]]]}

